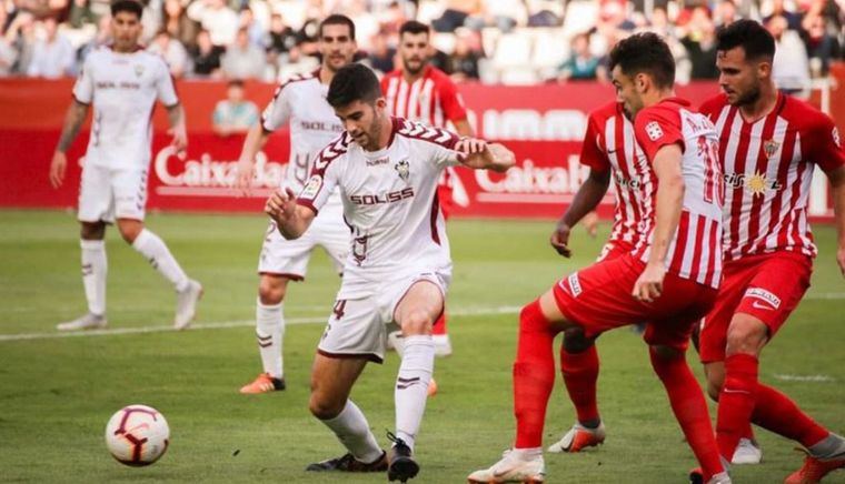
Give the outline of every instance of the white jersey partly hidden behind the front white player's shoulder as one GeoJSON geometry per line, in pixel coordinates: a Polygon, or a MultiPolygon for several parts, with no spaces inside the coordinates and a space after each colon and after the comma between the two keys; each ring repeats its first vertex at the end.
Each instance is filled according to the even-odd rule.
{"type": "MultiPolygon", "coordinates": [[[[320,150],[344,132],[334,108],[326,101],[329,87],[320,82],[319,72],[295,75],[281,83],[261,115],[266,132],[290,124],[290,157],[282,186],[295,193],[305,186],[320,150]]],[[[340,210],[337,194],[329,203],[340,210]]]]}

